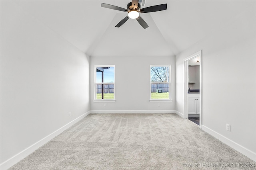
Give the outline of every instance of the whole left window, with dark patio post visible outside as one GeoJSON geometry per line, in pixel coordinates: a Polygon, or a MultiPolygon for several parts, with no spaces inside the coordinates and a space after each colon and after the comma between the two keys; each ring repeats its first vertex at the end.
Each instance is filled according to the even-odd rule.
{"type": "Polygon", "coordinates": [[[115,100],[115,66],[94,66],[94,101],[115,100]]]}

